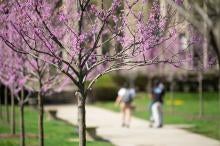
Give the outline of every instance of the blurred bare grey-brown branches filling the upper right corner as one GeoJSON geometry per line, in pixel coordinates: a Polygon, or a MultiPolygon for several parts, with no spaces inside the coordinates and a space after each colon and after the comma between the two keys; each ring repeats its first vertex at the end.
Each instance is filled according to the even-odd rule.
{"type": "Polygon", "coordinates": [[[208,41],[210,49],[216,52],[218,62],[220,62],[220,13],[218,0],[190,1],[178,0],[183,2],[183,6],[174,3],[171,0],[166,0],[173,6],[179,14],[184,16],[208,41]],[[204,25],[201,25],[204,24],[204,25]]]}

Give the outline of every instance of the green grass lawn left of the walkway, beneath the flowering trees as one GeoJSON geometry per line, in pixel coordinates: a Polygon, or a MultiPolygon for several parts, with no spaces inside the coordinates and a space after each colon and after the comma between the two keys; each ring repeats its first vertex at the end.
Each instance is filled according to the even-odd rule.
{"type": "MultiPolygon", "coordinates": [[[[18,109],[17,109],[18,110],[18,109]]],[[[18,115],[18,111],[16,113],[18,115]]],[[[19,121],[19,116],[16,117],[16,121],[19,121]]],[[[27,146],[38,146],[37,139],[37,111],[32,108],[25,108],[25,125],[26,133],[32,137],[26,138],[27,146]]],[[[45,119],[45,146],[70,146],[78,145],[77,134],[74,132],[74,127],[66,124],[62,121],[45,119]]],[[[17,122],[18,124],[18,122],[17,122]]],[[[0,120],[0,135],[10,133],[10,126],[4,121],[0,120]]],[[[16,132],[19,133],[19,127],[17,126],[16,132]]],[[[18,146],[19,137],[16,138],[0,138],[0,146],[18,146]]],[[[112,146],[112,144],[97,140],[88,141],[88,146],[112,146]]]]}

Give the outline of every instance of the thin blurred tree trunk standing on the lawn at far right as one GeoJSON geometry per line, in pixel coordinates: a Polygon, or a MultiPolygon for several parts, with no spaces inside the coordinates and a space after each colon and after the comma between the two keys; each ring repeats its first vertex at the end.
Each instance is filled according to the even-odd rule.
{"type": "Polygon", "coordinates": [[[198,82],[199,82],[199,117],[201,118],[204,115],[204,99],[203,99],[203,91],[202,91],[202,72],[199,72],[198,74],[198,82]]]}

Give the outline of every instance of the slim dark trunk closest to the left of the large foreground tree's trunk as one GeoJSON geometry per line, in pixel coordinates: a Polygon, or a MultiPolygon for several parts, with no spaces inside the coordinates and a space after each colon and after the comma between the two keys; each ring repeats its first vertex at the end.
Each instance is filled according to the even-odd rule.
{"type": "Polygon", "coordinates": [[[44,146],[44,108],[43,108],[43,98],[41,93],[38,93],[38,110],[39,110],[39,118],[38,118],[38,128],[39,128],[39,144],[40,146],[44,146]]]}

